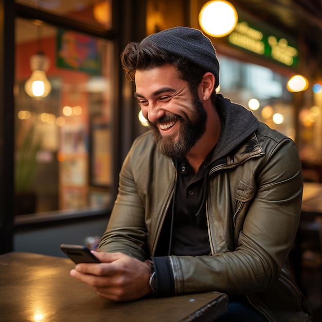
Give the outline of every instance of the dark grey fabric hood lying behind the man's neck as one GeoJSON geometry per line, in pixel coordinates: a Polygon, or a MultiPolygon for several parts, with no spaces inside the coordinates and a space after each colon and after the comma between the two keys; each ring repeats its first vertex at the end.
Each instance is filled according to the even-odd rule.
{"type": "Polygon", "coordinates": [[[213,152],[213,160],[219,159],[234,150],[259,127],[259,121],[244,106],[232,103],[228,98],[217,94],[216,109],[221,117],[221,133],[213,152]]]}

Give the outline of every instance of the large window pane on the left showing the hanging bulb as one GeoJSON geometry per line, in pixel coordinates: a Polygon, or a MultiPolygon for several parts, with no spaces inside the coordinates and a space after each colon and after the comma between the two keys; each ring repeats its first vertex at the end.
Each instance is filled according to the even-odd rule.
{"type": "Polygon", "coordinates": [[[108,206],[113,44],[17,19],[15,46],[15,213],[108,206]]]}

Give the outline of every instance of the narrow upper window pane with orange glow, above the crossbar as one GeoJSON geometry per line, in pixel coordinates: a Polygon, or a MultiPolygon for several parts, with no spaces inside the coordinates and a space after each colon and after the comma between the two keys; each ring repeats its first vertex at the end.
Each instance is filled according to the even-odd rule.
{"type": "Polygon", "coordinates": [[[16,3],[106,29],[112,28],[112,0],[16,0],[16,3]]]}

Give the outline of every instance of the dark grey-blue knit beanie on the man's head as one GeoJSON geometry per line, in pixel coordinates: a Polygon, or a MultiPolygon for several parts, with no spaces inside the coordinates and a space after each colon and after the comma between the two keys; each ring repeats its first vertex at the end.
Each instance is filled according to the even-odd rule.
{"type": "Polygon", "coordinates": [[[210,71],[219,85],[219,62],[211,41],[198,29],[174,27],[149,35],[141,41],[152,42],[175,56],[186,58],[205,71],[210,71]]]}

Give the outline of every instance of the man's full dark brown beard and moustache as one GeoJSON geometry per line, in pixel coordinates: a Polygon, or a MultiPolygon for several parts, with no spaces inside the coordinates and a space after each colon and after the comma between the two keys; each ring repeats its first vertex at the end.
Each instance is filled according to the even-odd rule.
{"type": "Polygon", "coordinates": [[[156,149],[173,160],[184,158],[195,145],[196,141],[201,138],[206,131],[207,112],[204,105],[199,98],[193,99],[193,105],[195,109],[195,118],[193,120],[188,118],[184,119],[178,115],[172,114],[165,115],[154,123],[149,122],[150,128],[154,133],[156,149]],[[177,134],[163,136],[157,127],[157,123],[166,123],[171,120],[180,121],[180,129],[176,141],[175,136],[177,134]]]}

